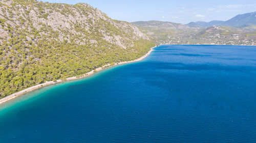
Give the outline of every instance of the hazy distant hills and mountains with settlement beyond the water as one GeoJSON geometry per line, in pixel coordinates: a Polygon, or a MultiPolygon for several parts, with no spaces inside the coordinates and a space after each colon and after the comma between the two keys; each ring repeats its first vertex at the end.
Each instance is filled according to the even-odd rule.
{"type": "Polygon", "coordinates": [[[157,44],[256,45],[256,12],[227,21],[198,21],[180,24],[167,21],[137,21],[132,24],[157,44]]]}

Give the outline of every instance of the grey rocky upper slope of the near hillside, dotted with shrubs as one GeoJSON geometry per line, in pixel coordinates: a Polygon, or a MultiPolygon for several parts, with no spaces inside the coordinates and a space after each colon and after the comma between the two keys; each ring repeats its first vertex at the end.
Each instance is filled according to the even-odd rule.
{"type": "MultiPolygon", "coordinates": [[[[35,28],[50,28],[59,33],[56,39],[70,41],[74,35],[83,37],[77,43],[88,43],[97,46],[97,39],[88,35],[97,35],[106,42],[122,48],[131,47],[134,40],[149,40],[138,28],[130,23],[113,20],[108,15],[88,4],[51,4],[37,1],[1,1],[0,18],[12,27],[19,27],[30,32],[35,28]],[[12,6],[11,8],[9,6],[12,6]],[[26,27],[27,26],[27,27],[26,27]]],[[[1,30],[0,34],[6,33],[1,30]]],[[[50,32],[39,32],[50,35],[50,32]]],[[[7,37],[9,39],[9,37],[7,37]]]]}

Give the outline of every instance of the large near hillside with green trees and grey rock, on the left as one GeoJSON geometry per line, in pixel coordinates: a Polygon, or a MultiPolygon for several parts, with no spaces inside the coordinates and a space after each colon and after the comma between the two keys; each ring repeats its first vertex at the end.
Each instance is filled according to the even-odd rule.
{"type": "Polygon", "coordinates": [[[144,55],[138,28],[88,4],[0,1],[0,98],[144,55]]]}

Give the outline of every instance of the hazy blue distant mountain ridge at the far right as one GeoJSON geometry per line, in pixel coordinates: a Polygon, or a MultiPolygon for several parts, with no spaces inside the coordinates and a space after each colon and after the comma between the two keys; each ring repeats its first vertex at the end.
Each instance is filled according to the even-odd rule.
{"type": "Polygon", "coordinates": [[[237,15],[227,21],[214,20],[210,22],[198,21],[197,24],[208,27],[212,25],[216,26],[230,26],[230,27],[243,27],[247,24],[256,24],[256,12],[245,13],[237,15]]]}

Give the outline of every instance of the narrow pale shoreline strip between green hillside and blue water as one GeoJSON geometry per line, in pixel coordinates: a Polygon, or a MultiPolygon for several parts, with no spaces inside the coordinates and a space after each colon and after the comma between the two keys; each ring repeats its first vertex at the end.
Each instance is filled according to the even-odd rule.
{"type": "MultiPolygon", "coordinates": [[[[155,46],[155,47],[157,47],[157,46],[155,46]]],[[[136,60],[133,60],[133,61],[119,62],[119,63],[115,63],[114,65],[108,64],[108,65],[104,65],[102,67],[99,67],[99,68],[97,68],[95,70],[92,70],[92,71],[90,71],[88,73],[85,73],[85,74],[83,74],[83,75],[81,75],[79,77],[73,76],[73,77],[66,78],[66,80],[58,79],[57,81],[46,81],[45,83],[34,85],[33,87],[30,87],[28,89],[19,91],[17,93],[9,95],[9,96],[7,96],[7,97],[5,97],[3,99],[0,99],[0,105],[5,103],[5,102],[7,102],[7,101],[10,101],[10,100],[18,97],[18,96],[21,96],[21,95],[26,94],[28,92],[32,92],[32,91],[37,90],[37,89],[42,88],[42,87],[46,87],[48,85],[52,85],[52,84],[56,84],[56,83],[60,83],[60,82],[65,82],[65,81],[81,79],[81,78],[84,78],[84,77],[88,77],[88,76],[90,76],[90,75],[92,75],[94,73],[97,73],[98,71],[101,71],[101,70],[106,69],[106,68],[114,67],[114,66],[117,66],[117,65],[123,65],[123,64],[128,64],[128,63],[139,62],[139,61],[145,59],[148,55],[150,55],[150,53],[154,50],[155,47],[152,47],[150,49],[150,51],[148,51],[146,54],[141,56],[139,59],[136,59],[136,60]]]]}

